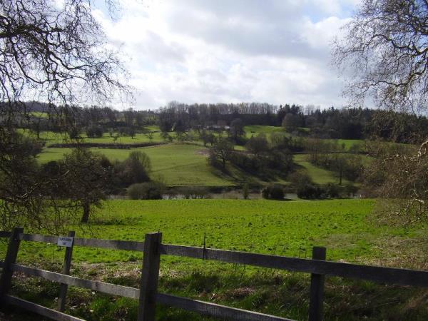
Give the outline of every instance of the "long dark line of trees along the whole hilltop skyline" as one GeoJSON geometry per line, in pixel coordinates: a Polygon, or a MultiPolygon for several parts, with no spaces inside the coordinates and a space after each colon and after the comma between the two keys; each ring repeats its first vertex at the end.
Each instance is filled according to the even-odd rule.
{"type": "MultiPolygon", "coordinates": [[[[422,143],[428,136],[428,118],[413,113],[373,110],[368,108],[327,108],[268,103],[168,103],[156,111],[136,111],[132,108],[117,111],[110,107],[88,108],[57,107],[58,113],[44,117],[49,109],[45,103],[26,103],[29,111],[26,121],[17,126],[30,127],[33,131],[61,131],[64,123],[72,123],[75,135],[81,132],[91,137],[135,136],[146,126],[158,125],[163,133],[183,133],[190,129],[225,131],[240,122],[242,126],[283,126],[295,136],[317,138],[375,139],[396,143],[422,143]],[[71,110],[73,112],[71,112],[71,110]],[[63,112],[61,112],[63,111],[63,112]]],[[[73,133],[71,133],[73,134],[73,133]]]]}

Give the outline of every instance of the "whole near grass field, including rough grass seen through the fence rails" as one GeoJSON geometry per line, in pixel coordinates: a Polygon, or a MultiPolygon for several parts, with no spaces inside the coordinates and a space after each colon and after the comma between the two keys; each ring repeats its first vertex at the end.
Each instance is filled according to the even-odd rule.
{"type": "MultiPolygon", "coordinates": [[[[163,233],[163,243],[309,258],[314,245],[327,260],[413,267],[424,263],[427,228],[391,228],[372,220],[374,200],[113,200],[78,236],[143,240],[163,233]],[[91,232],[88,232],[91,231],[91,232]]],[[[4,255],[5,245],[1,245],[4,255]]],[[[60,270],[63,248],[21,242],[19,262],[60,270]]],[[[138,287],[141,253],[74,248],[71,275],[138,287]]],[[[163,255],[160,292],[307,320],[309,275],[163,255]]],[[[31,277],[15,280],[13,294],[49,307],[58,285],[31,277]]],[[[137,302],[70,287],[67,312],[85,320],[136,318],[137,302]]],[[[426,290],[327,277],[325,320],[426,320],[426,290]],[[424,292],[425,291],[425,292],[424,292]]],[[[166,308],[158,321],[214,320],[166,308]]],[[[39,320],[14,310],[11,320],[39,320]]]]}

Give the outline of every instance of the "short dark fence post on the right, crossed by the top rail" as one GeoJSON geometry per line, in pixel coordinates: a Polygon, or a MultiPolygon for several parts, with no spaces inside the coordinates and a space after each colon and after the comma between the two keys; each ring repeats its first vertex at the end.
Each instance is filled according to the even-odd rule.
{"type": "MultiPolygon", "coordinates": [[[[312,248],[313,260],[325,260],[325,248],[312,248]]],[[[324,301],[325,275],[312,273],[310,275],[309,321],[322,321],[322,305],[324,301]]]]}

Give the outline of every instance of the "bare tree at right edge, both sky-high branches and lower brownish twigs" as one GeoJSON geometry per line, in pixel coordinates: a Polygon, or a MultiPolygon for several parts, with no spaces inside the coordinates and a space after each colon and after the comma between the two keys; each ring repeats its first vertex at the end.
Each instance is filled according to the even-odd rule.
{"type": "MultiPolygon", "coordinates": [[[[363,0],[343,30],[344,39],[334,44],[333,63],[348,77],[344,93],[352,103],[373,98],[381,108],[427,112],[427,0],[363,0]]],[[[385,199],[379,211],[384,218],[428,218],[426,146],[413,156],[379,155],[365,170],[366,186],[385,199]]]]}

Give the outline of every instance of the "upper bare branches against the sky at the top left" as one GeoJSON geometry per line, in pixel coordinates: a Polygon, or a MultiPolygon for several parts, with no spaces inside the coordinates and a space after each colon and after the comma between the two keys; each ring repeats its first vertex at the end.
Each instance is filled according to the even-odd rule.
{"type": "Polygon", "coordinates": [[[111,100],[126,75],[89,0],[4,0],[0,3],[0,99],[35,96],[71,104],[111,100]]]}

